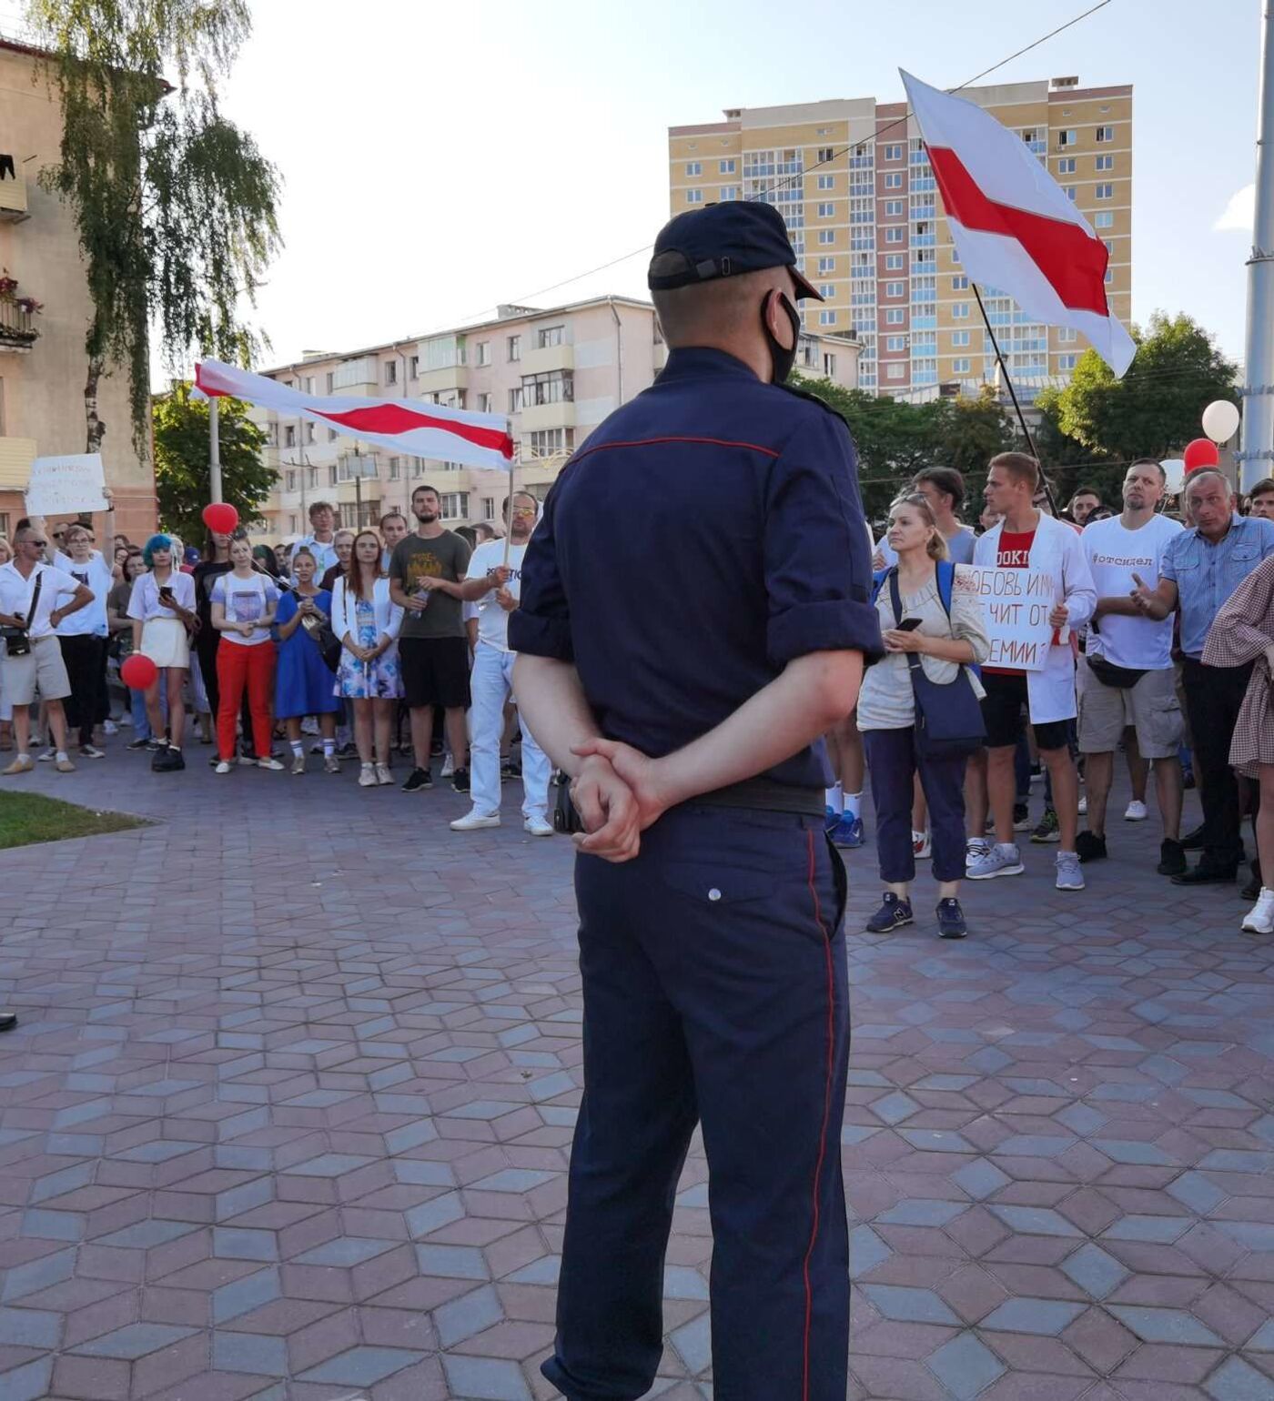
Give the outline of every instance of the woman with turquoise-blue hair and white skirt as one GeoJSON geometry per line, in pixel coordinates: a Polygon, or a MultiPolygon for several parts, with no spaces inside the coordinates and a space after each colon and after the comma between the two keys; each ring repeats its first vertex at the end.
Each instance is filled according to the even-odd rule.
{"type": "Polygon", "coordinates": [[[146,689],[146,715],[151,734],[160,741],[150,766],[157,773],[170,773],[186,766],[181,757],[186,723],[181,691],[191,665],[186,629],[195,622],[195,580],[177,566],[168,535],[151,535],[142,549],[142,558],[149,573],[137,577],[129,598],[133,651],[150,657],[158,668],[156,679],[146,689]],[[160,688],[168,695],[167,729],[160,708],[160,688]]]}

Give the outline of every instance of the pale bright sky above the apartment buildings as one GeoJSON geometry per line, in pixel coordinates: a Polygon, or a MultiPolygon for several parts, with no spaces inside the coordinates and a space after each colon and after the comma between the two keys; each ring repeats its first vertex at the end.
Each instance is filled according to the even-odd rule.
{"type": "MultiPolygon", "coordinates": [[[[953,87],[1085,0],[254,0],[227,92],[286,178],[261,297],[272,363],[604,291],[645,296],[669,125],[726,106],[953,87]]],[[[985,81],[1134,84],[1134,317],[1242,354],[1260,0],[1111,0],[985,81]]]]}

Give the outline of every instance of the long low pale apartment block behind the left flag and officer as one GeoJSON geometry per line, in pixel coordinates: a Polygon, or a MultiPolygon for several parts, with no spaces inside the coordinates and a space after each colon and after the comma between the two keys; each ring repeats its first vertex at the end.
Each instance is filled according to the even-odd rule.
{"type": "MultiPolygon", "coordinates": [[[[797,363],[852,388],[859,343],[851,335],[802,336],[797,363]]],[[[519,455],[517,485],[544,496],[568,457],[615,408],[648,388],[667,360],[655,308],[631,297],[538,310],[500,307],[493,321],[397,340],[348,354],[308,353],[299,364],[265,373],[306,394],[402,398],[507,415],[519,455]]],[[[278,485],[254,534],[286,541],[308,530],[315,500],[332,502],[343,525],[374,524],[390,510],[411,520],[420,482],[443,497],[453,525],[500,525],[509,479],[384,448],[300,419],[261,412],[266,462],[278,485]]]]}

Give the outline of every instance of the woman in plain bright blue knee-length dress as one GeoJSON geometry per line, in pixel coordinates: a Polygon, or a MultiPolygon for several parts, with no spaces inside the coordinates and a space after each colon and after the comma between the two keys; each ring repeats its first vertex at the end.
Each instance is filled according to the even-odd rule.
{"type": "Polygon", "coordinates": [[[332,616],[332,595],[314,584],[318,562],[301,545],[292,559],[296,588],[279,600],[275,623],[279,633],[279,671],[275,679],[275,717],[287,729],[292,772],[306,772],[306,744],[301,720],[318,716],[322,731],[322,768],[339,773],[336,759],[336,712],[341,699],[332,686],[332,672],[318,650],[318,629],[332,616]]]}

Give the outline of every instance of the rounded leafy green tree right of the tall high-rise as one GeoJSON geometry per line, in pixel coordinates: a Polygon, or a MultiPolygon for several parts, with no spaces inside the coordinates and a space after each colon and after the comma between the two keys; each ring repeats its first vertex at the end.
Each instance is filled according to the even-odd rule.
{"type": "Polygon", "coordinates": [[[1146,332],[1134,328],[1137,359],[1123,380],[1088,350],[1057,395],[1057,426],[1089,457],[1120,462],[1174,457],[1203,434],[1203,410],[1214,399],[1238,402],[1238,367],[1190,317],[1155,312],[1146,332]]]}

